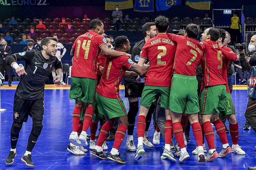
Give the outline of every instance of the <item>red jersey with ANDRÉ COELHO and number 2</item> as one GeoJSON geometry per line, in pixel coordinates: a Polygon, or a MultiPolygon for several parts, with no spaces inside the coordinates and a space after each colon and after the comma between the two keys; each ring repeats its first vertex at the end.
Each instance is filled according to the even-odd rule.
{"type": "Polygon", "coordinates": [[[140,57],[149,60],[145,85],[170,87],[176,45],[166,34],[158,34],[143,46],[140,57]]]}

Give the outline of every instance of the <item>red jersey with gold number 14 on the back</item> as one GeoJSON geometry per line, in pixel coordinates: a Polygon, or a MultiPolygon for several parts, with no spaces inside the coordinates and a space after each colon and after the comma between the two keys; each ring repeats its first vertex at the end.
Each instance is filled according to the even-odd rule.
{"type": "Polygon", "coordinates": [[[97,79],[96,58],[106,38],[90,30],[77,37],[72,49],[75,50],[71,77],[97,79]]]}

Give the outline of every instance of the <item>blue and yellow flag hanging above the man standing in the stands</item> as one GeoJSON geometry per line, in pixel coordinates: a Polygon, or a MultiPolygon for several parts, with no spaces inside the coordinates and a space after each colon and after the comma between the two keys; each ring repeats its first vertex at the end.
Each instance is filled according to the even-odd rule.
{"type": "Polygon", "coordinates": [[[105,10],[116,10],[116,5],[119,10],[133,8],[132,0],[105,0],[105,10]]]}

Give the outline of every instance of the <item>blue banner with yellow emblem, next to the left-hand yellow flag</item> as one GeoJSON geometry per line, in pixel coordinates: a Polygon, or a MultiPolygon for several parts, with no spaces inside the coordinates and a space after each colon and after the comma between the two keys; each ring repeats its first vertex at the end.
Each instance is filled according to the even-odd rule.
{"type": "Polygon", "coordinates": [[[134,11],[154,12],[154,0],[135,0],[134,11]]]}

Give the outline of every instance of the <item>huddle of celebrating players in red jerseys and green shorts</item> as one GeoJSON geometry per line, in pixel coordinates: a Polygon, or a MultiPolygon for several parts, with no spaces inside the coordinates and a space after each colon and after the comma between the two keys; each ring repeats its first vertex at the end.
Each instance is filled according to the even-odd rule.
{"type": "MultiPolygon", "coordinates": [[[[153,29],[157,34],[153,34],[144,43],[139,58],[136,55],[133,56],[133,60],[127,54],[130,51],[130,42],[126,36],[118,36],[115,39],[116,50],[111,50],[107,46],[106,38],[101,35],[104,26],[100,20],[92,20],[91,30],[76,39],[71,50],[74,60],[69,96],[77,102],[73,112],[73,130],[69,137],[71,141],[69,147],[87,146],[86,131],[89,125],[94,123],[93,128],[90,127],[92,137],[92,132],[95,133],[97,130],[97,119],[103,116],[106,122],[100,130],[97,144],[94,147],[90,145],[90,149],[93,149],[92,155],[100,159],[126,163],[118,149],[130,122],[119,95],[119,84],[123,77],[137,76],[138,82],[145,78],[145,86],[141,94],[137,120],[138,145],[135,160],[141,159],[145,152],[143,143],[145,144],[146,117],[157,96],[161,107],[165,110],[166,118],[165,146],[161,159],[176,161],[172,150],[175,151],[176,156],[180,156],[180,162],[189,158],[181,126],[181,118],[184,116],[188,117],[193,129],[197,147],[192,154],[198,154],[199,162],[224,157],[232,151],[245,154],[238,145],[238,124],[227,80],[229,61],[236,61],[238,58],[230,48],[223,46],[225,30],[208,28],[202,33],[202,42],[200,42],[196,39],[201,30],[196,24],[189,24],[184,36],[166,33],[169,21],[164,16],[157,17],[152,26],[154,25],[153,29]],[[101,57],[97,58],[98,55],[101,57]],[[149,65],[146,64],[147,62],[149,65]],[[198,97],[196,68],[200,64],[203,81],[198,97]],[[87,106],[84,115],[81,114],[83,103],[87,106]],[[225,111],[226,117],[231,120],[229,122],[232,147],[228,144],[225,127],[219,119],[220,111],[225,111]],[[82,117],[84,120],[81,126],[79,120],[82,117]],[[211,121],[223,144],[220,153],[215,149],[211,121]],[[103,143],[114,122],[118,122],[119,126],[111,152],[105,156],[103,143]],[[176,147],[171,147],[173,134],[177,141],[176,147]],[[206,157],[204,136],[209,146],[206,157]]],[[[131,151],[135,150],[136,147],[131,151]]]]}

